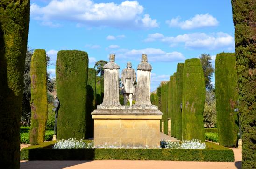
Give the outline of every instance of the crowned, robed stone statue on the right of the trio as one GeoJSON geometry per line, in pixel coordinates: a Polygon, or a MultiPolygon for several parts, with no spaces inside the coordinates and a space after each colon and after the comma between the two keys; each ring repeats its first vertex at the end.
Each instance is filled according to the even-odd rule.
{"type": "Polygon", "coordinates": [[[138,66],[138,80],[136,86],[135,105],[151,105],[150,80],[152,67],[148,63],[147,55],[142,54],[142,62],[138,66]]]}

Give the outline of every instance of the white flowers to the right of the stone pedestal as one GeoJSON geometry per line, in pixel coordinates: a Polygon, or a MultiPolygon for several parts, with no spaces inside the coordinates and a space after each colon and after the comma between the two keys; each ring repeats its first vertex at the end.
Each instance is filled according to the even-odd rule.
{"type": "Polygon", "coordinates": [[[197,139],[186,140],[181,143],[161,140],[161,147],[165,149],[206,149],[206,144],[197,139]]]}

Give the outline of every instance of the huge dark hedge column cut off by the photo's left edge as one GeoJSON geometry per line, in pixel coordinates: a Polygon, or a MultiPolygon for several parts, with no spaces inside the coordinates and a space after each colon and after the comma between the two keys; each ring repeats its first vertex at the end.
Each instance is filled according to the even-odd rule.
{"type": "Polygon", "coordinates": [[[29,0],[0,1],[1,168],[20,168],[20,121],[29,7],[29,0]]]}

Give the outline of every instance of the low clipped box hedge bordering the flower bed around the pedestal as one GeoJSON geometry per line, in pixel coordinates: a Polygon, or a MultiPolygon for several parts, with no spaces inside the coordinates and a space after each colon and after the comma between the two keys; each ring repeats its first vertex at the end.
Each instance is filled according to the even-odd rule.
{"type": "Polygon", "coordinates": [[[234,162],[231,149],[206,142],[207,149],[52,149],[55,141],[21,150],[21,160],[172,160],[234,162]]]}

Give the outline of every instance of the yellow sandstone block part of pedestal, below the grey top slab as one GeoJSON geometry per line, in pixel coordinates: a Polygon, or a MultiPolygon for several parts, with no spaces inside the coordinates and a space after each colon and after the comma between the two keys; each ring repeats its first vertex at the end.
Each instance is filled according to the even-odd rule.
{"type": "Polygon", "coordinates": [[[159,147],[162,115],[92,115],[94,145],[159,147]]]}

